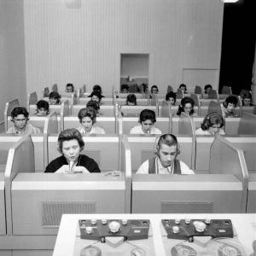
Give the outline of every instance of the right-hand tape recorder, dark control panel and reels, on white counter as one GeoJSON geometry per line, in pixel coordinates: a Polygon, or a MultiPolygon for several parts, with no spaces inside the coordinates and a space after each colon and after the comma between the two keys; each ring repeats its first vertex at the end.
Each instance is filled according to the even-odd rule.
{"type": "Polygon", "coordinates": [[[166,255],[245,256],[230,219],[162,219],[166,255]]]}

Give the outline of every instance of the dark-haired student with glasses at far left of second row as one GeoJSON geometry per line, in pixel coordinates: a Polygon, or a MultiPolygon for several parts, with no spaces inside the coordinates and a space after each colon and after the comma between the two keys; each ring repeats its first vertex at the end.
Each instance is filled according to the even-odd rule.
{"type": "Polygon", "coordinates": [[[11,112],[11,120],[15,123],[10,127],[6,133],[14,134],[40,134],[39,128],[34,127],[32,124],[27,124],[29,113],[26,108],[16,107],[11,112]]]}

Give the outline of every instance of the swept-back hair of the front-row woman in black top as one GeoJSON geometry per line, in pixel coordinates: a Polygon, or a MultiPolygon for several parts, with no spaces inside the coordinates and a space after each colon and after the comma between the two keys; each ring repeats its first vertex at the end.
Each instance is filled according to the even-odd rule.
{"type": "Polygon", "coordinates": [[[63,142],[77,140],[81,150],[84,149],[84,140],[81,133],[77,129],[66,129],[61,131],[58,137],[59,151],[62,152],[63,142]]]}

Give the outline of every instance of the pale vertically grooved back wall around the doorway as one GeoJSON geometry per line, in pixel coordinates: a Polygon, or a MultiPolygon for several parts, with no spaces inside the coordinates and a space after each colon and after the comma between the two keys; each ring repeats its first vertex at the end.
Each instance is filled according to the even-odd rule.
{"type": "Polygon", "coordinates": [[[119,88],[120,54],[149,54],[149,86],[183,81],[183,68],[220,66],[220,0],[24,0],[26,88],[57,83],[119,88]]]}

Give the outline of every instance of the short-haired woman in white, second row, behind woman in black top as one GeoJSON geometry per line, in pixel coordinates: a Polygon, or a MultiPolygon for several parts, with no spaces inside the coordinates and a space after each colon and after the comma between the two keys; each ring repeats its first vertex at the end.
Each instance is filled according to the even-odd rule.
{"type": "Polygon", "coordinates": [[[96,123],[96,111],[92,108],[79,110],[79,121],[81,125],[77,128],[81,134],[105,134],[106,132],[96,123]]]}

